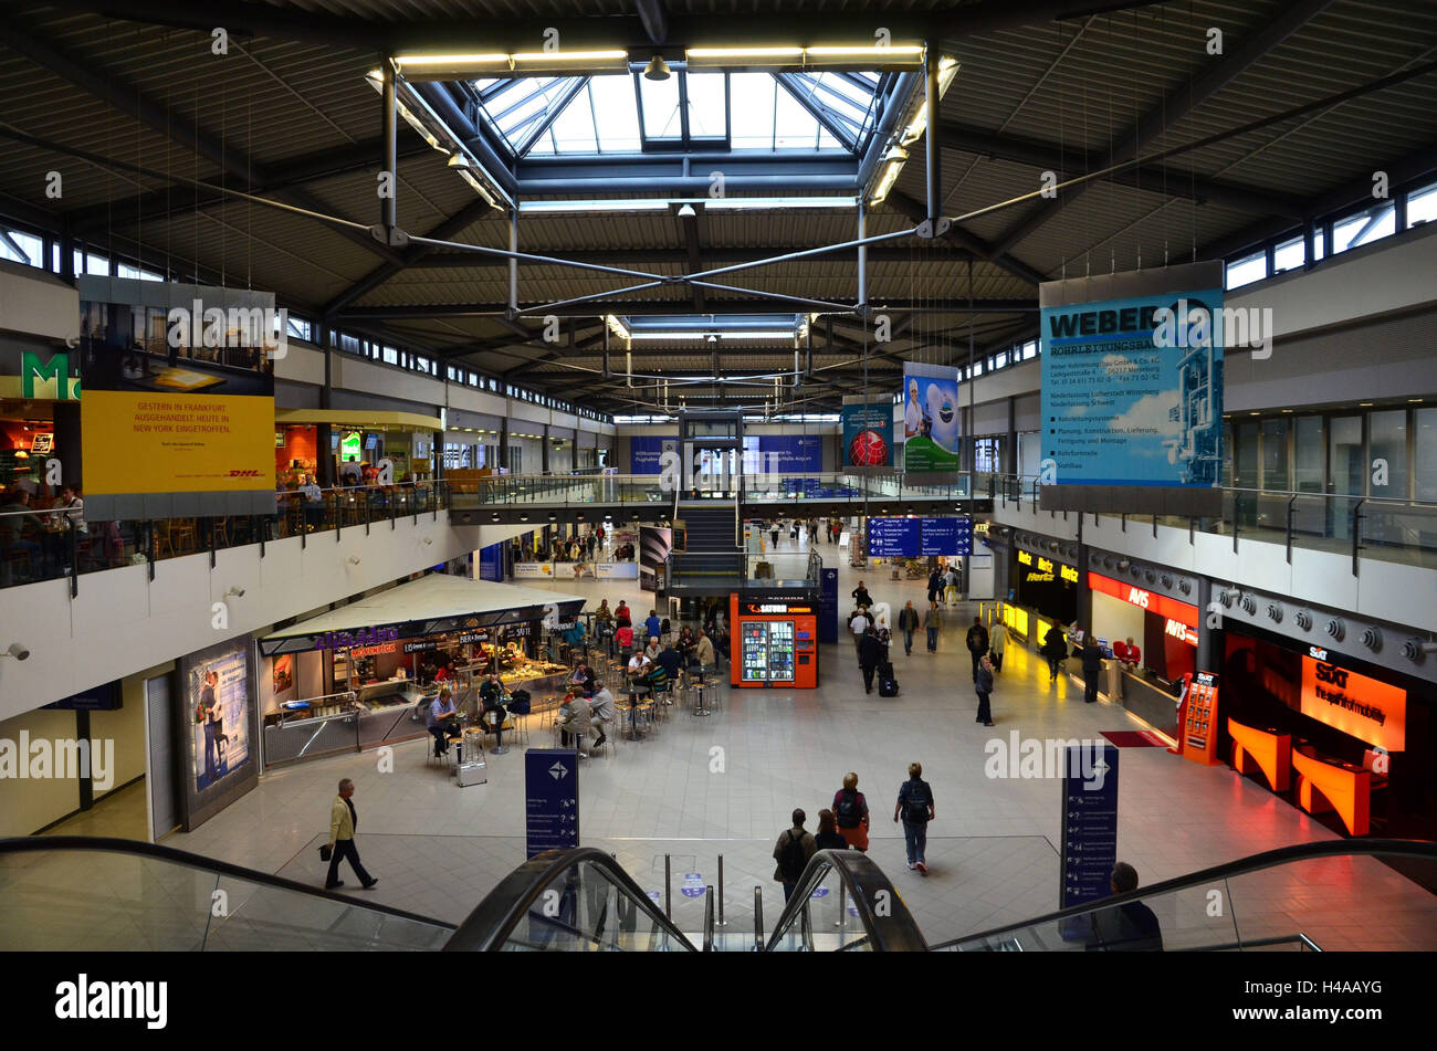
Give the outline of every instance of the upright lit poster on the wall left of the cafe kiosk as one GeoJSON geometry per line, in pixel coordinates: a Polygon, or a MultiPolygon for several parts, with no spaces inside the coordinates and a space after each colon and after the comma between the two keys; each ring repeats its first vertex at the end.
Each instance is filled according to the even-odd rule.
{"type": "Polygon", "coordinates": [[[203,793],[250,758],[249,643],[187,662],[184,676],[194,790],[203,793]]]}

